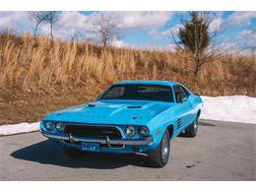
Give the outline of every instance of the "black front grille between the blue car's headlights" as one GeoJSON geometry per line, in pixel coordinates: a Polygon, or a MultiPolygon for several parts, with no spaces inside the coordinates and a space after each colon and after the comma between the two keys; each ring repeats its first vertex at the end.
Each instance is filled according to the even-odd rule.
{"type": "Polygon", "coordinates": [[[98,125],[66,125],[64,133],[72,134],[72,136],[105,139],[121,139],[122,136],[119,130],[111,126],[98,125]]]}

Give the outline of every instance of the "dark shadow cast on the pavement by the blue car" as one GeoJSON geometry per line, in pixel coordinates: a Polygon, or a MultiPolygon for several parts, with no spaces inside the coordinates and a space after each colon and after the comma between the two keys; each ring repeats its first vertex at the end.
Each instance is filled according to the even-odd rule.
{"type": "Polygon", "coordinates": [[[19,160],[31,160],[43,164],[53,164],[66,167],[86,167],[96,169],[112,169],[129,164],[147,166],[147,157],[138,155],[116,155],[85,153],[79,159],[70,159],[65,156],[62,147],[46,140],[13,152],[11,156],[19,160]]]}

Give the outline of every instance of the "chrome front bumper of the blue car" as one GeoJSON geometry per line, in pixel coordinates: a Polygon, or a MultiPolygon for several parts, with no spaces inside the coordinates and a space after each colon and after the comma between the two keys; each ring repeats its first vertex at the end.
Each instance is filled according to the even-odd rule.
{"type": "Polygon", "coordinates": [[[106,145],[149,145],[153,142],[152,137],[148,137],[145,140],[110,140],[109,138],[106,139],[91,139],[91,138],[82,138],[82,137],[75,137],[71,134],[69,136],[65,135],[52,135],[47,133],[42,133],[44,137],[50,139],[58,139],[63,141],[70,141],[73,142],[95,142],[99,144],[106,144],[106,145]]]}

